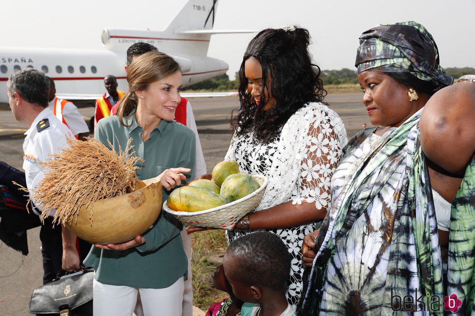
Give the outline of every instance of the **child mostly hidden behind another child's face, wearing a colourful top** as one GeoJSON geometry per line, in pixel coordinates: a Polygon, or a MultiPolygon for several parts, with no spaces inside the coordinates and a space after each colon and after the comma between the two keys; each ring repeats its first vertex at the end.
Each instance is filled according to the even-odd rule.
{"type": "Polygon", "coordinates": [[[229,299],[224,299],[219,303],[211,305],[206,316],[240,316],[242,301],[234,295],[233,288],[229,284],[228,279],[226,279],[226,275],[224,275],[224,268],[222,265],[216,267],[213,281],[215,288],[229,294],[229,299]]]}

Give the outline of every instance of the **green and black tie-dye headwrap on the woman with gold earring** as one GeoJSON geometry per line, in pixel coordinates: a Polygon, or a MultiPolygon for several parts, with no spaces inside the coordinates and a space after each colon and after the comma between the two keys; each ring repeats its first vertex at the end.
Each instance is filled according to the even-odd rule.
{"type": "Polygon", "coordinates": [[[439,89],[453,83],[453,78],[439,65],[439,50],[432,35],[413,21],[380,25],[361,34],[355,66],[358,74],[374,68],[382,72],[409,72],[421,80],[437,83],[439,89]]]}

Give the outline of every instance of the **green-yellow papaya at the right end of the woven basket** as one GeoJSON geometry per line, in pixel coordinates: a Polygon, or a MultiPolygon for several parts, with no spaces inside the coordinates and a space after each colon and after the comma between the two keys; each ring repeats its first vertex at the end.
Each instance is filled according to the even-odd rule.
{"type": "Polygon", "coordinates": [[[232,202],[250,195],[260,186],[252,176],[246,173],[235,173],[224,179],[220,194],[232,202]]]}

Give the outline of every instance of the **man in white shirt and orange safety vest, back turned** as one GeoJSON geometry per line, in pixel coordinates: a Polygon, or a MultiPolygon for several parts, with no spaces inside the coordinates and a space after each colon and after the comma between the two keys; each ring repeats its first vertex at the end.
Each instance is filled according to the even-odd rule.
{"type": "Polygon", "coordinates": [[[57,98],[54,81],[48,76],[47,78],[49,80],[48,106],[51,113],[69,127],[74,137],[86,140],[89,136],[89,127],[79,113],[78,107],[70,101],[57,98]]]}

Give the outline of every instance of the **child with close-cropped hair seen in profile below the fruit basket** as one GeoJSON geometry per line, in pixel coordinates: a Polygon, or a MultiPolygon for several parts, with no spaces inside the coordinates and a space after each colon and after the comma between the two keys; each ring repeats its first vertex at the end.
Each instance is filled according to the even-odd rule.
{"type": "Polygon", "coordinates": [[[241,316],[295,316],[285,298],[291,256],[284,242],[269,231],[233,241],[223,258],[234,295],[244,301],[241,316]]]}

